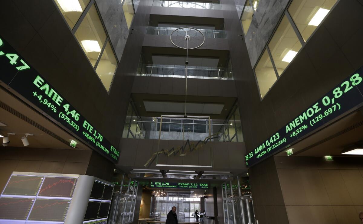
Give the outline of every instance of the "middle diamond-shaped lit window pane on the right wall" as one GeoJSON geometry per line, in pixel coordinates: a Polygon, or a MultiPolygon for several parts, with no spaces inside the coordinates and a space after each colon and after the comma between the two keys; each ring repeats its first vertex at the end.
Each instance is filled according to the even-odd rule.
{"type": "Polygon", "coordinates": [[[285,15],[269,43],[272,59],[279,76],[294,59],[301,47],[301,42],[285,15]]]}

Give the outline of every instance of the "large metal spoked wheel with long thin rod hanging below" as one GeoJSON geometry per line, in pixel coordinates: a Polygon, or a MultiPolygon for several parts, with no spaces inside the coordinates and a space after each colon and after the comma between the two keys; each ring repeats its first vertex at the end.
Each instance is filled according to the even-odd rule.
{"type": "Polygon", "coordinates": [[[203,45],[204,34],[200,30],[192,27],[181,27],[170,34],[170,41],[174,46],[187,50],[187,60],[185,61],[185,106],[184,117],[187,118],[187,74],[188,74],[188,50],[196,49],[203,45]]]}

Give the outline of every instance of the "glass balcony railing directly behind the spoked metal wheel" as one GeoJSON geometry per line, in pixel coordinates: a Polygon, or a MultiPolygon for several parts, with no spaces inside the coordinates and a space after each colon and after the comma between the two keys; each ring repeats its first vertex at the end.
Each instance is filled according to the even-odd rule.
{"type": "MultiPolygon", "coordinates": [[[[178,28],[176,27],[161,27],[161,26],[149,26],[146,30],[146,34],[170,36],[171,33],[178,28]]],[[[225,30],[210,30],[210,29],[198,29],[204,34],[205,38],[227,38],[225,30]]],[[[193,32],[193,31],[190,31],[193,32]]]]}

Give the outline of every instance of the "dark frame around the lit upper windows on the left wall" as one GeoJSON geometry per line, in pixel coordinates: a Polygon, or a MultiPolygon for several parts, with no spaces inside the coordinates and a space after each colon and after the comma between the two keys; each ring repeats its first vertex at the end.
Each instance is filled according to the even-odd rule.
{"type": "MultiPolygon", "coordinates": [[[[134,8],[134,1],[133,1],[133,0],[131,0],[131,1],[132,1],[132,7],[134,8]]],[[[103,20],[102,20],[101,13],[99,12],[99,9],[98,9],[98,6],[97,6],[96,1],[95,1],[95,0],[90,0],[90,1],[89,1],[89,3],[87,4],[87,6],[86,6],[85,10],[83,10],[83,12],[82,12],[81,16],[78,18],[78,21],[76,22],[76,24],[74,24],[73,29],[71,29],[71,28],[70,28],[70,26],[69,26],[68,22],[65,20],[65,18],[64,18],[64,16],[63,16],[63,14],[62,14],[62,12],[61,12],[61,10],[60,10],[60,8],[58,7],[58,5],[57,5],[57,3],[56,3],[56,0],[53,0],[53,3],[54,3],[54,5],[56,6],[56,8],[57,8],[58,12],[61,14],[62,19],[64,20],[65,24],[66,24],[66,25],[68,26],[68,28],[70,29],[70,31],[71,31],[71,33],[72,33],[72,35],[73,35],[73,38],[77,41],[77,44],[78,44],[78,46],[79,46],[79,48],[80,48],[81,50],[82,50],[82,46],[79,44],[79,41],[77,40],[77,38],[76,38],[75,34],[76,34],[77,29],[79,28],[79,25],[81,25],[81,23],[82,23],[83,19],[86,17],[86,15],[87,15],[87,13],[89,12],[89,10],[90,10],[90,8],[92,7],[92,5],[94,5],[94,6],[95,6],[96,11],[97,11],[97,14],[98,14],[98,17],[99,17],[99,20],[100,20],[100,21],[101,21],[101,23],[102,23],[103,30],[105,30],[105,33],[106,33],[106,40],[105,40],[105,42],[103,43],[102,49],[101,49],[101,51],[100,51],[100,53],[99,53],[99,55],[98,55],[97,61],[96,61],[96,63],[95,63],[95,65],[94,65],[94,66],[93,66],[93,65],[91,64],[91,62],[88,60],[88,58],[87,58],[87,55],[86,55],[85,51],[83,51],[83,50],[82,50],[82,53],[83,53],[83,54],[85,55],[85,57],[87,58],[87,61],[89,62],[89,65],[92,67],[92,69],[93,69],[93,71],[94,71],[95,75],[97,76],[97,78],[98,78],[98,79],[99,79],[99,81],[101,82],[101,84],[102,84],[103,88],[105,89],[105,91],[107,92],[107,94],[108,94],[108,95],[110,95],[111,88],[112,88],[112,85],[113,85],[113,81],[114,81],[114,79],[115,79],[116,71],[117,71],[117,69],[118,69],[118,66],[119,66],[120,62],[119,62],[119,59],[118,59],[118,57],[117,57],[117,55],[116,55],[116,51],[115,51],[115,49],[114,49],[114,47],[113,47],[113,44],[111,43],[109,33],[107,32],[106,26],[105,26],[105,24],[104,24],[104,22],[103,22],[103,20]],[[110,41],[111,49],[112,49],[113,54],[114,54],[114,56],[115,56],[115,58],[116,58],[116,60],[117,60],[117,65],[116,65],[115,72],[114,72],[114,75],[113,75],[112,80],[111,80],[111,83],[110,83],[110,89],[109,89],[109,90],[107,90],[107,89],[106,89],[105,85],[103,84],[102,80],[99,78],[99,76],[98,76],[98,74],[97,74],[97,72],[96,72],[96,69],[97,69],[98,63],[99,63],[99,61],[101,60],[102,54],[103,54],[103,53],[104,53],[104,51],[105,51],[105,48],[106,48],[106,45],[107,45],[107,42],[108,42],[108,41],[110,41]]],[[[134,13],[135,13],[135,8],[134,8],[134,13]]],[[[136,14],[136,13],[135,13],[135,14],[136,14]]],[[[134,16],[134,17],[135,17],[135,16],[134,16]]],[[[132,21],[133,21],[133,20],[134,20],[134,18],[132,18],[132,21]]],[[[131,24],[132,24],[132,21],[131,21],[131,24]]],[[[129,30],[129,32],[130,32],[130,30],[129,30]]]]}

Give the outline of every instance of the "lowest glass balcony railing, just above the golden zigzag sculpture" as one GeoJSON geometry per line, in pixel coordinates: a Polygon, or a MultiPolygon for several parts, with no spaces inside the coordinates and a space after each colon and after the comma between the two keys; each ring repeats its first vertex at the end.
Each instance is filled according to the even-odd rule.
{"type": "Polygon", "coordinates": [[[126,122],[126,125],[128,127],[124,129],[124,138],[243,141],[241,125],[237,123],[226,124],[223,120],[211,120],[211,124],[209,124],[208,119],[173,119],[169,117],[163,118],[162,122],[160,122],[160,117],[142,117],[142,120],[132,119],[130,122],[126,122]]]}

